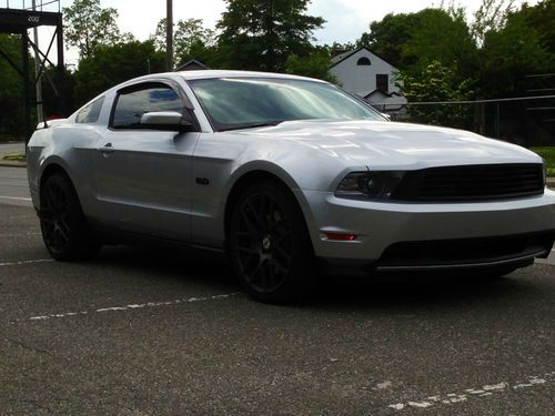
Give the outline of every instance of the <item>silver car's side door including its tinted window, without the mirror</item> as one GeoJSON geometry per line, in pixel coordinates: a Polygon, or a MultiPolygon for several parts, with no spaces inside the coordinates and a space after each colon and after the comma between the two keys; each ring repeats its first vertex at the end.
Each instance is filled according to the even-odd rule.
{"type": "Polygon", "coordinates": [[[179,85],[150,81],[118,91],[95,154],[98,209],[111,227],[186,240],[191,155],[199,133],[141,125],[142,114],[160,111],[190,114],[179,85]]]}

